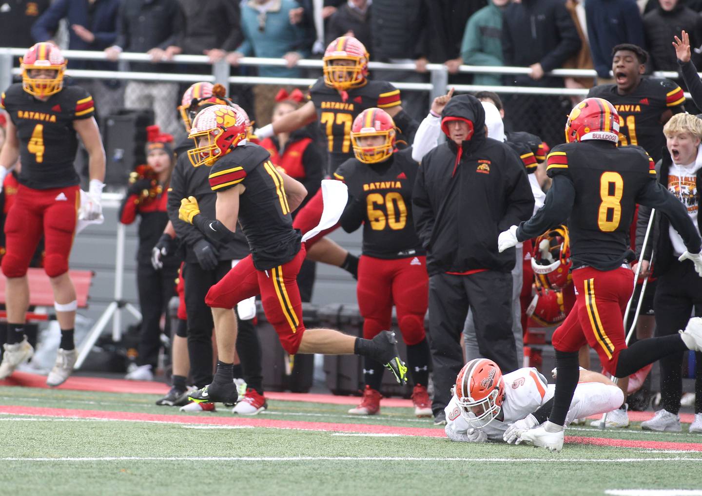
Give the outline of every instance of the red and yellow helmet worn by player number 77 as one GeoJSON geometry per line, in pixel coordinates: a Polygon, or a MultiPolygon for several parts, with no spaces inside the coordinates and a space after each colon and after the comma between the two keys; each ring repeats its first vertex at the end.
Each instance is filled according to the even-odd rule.
{"type": "Polygon", "coordinates": [[[324,51],[324,83],[338,91],[363,86],[369,58],[363,43],[353,36],[339,36],[324,51]]]}

